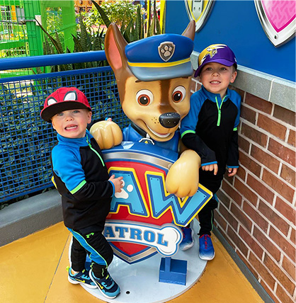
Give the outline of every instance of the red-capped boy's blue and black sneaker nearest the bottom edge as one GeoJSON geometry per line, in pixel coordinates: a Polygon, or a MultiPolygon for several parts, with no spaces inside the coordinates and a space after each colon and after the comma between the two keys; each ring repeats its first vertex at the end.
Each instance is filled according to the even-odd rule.
{"type": "Polygon", "coordinates": [[[93,271],[89,270],[89,276],[91,280],[98,285],[98,290],[101,291],[102,295],[108,299],[114,299],[120,294],[120,287],[117,283],[111,278],[110,274],[107,271],[107,275],[101,279],[96,278],[93,275],[93,271]]]}

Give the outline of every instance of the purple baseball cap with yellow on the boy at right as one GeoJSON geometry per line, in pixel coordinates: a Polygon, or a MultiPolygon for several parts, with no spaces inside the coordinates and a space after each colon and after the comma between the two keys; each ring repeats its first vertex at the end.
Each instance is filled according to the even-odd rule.
{"type": "Polygon", "coordinates": [[[194,76],[199,76],[205,64],[216,62],[231,67],[234,65],[237,68],[237,58],[234,52],[224,44],[212,44],[205,47],[203,52],[198,56],[198,69],[196,69],[194,76]]]}

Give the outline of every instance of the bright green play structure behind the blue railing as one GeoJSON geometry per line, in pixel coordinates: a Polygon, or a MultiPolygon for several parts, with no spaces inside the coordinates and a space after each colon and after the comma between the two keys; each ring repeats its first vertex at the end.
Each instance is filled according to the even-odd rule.
{"type": "MultiPolygon", "coordinates": [[[[0,9],[0,58],[44,55],[44,34],[36,19],[48,33],[59,35],[64,50],[66,47],[73,50],[72,34],[76,33],[73,0],[0,0],[0,9]]],[[[11,75],[28,73],[14,71],[11,75]]]]}

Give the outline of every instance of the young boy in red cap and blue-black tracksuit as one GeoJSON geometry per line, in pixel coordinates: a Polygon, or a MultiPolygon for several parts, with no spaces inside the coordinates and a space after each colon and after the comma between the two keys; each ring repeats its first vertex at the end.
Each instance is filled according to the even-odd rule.
{"type": "Polygon", "coordinates": [[[123,177],[108,176],[100,147],[86,126],[91,107],[84,93],[62,87],[45,100],[41,118],[57,131],[51,161],[55,185],[62,196],[64,225],[73,234],[68,280],[97,288],[108,299],[120,293],[108,265],[113,250],[103,236],[111,197],[123,188],[123,177]],[[91,270],[85,269],[86,253],[91,270]]]}

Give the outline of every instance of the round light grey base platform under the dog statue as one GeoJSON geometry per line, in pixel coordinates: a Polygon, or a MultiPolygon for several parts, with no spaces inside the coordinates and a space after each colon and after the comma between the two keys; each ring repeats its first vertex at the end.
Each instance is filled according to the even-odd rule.
{"type": "Polygon", "coordinates": [[[121,290],[120,295],[115,299],[103,297],[98,289],[93,290],[81,286],[91,295],[105,302],[160,303],[182,295],[200,279],[207,264],[207,261],[201,260],[198,256],[197,233],[199,224],[197,219],[193,219],[193,229],[195,231],[193,236],[194,246],[187,251],[179,250],[172,257],[173,259],[187,261],[186,285],[159,282],[159,266],[161,258],[164,258],[164,256],[156,254],[147,260],[134,264],[128,264],[114,256],[113,262],[109,266],[109,272],[121,290]]]}

